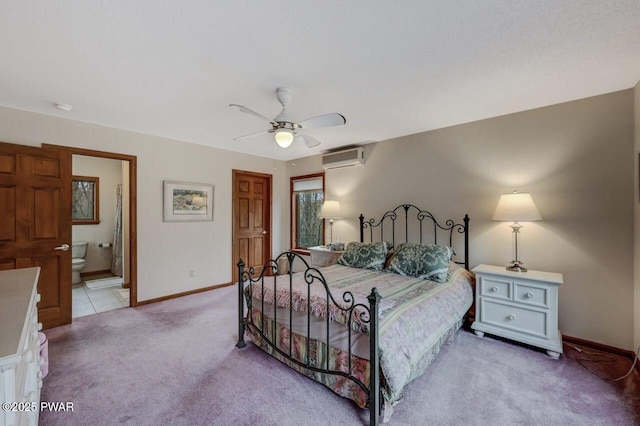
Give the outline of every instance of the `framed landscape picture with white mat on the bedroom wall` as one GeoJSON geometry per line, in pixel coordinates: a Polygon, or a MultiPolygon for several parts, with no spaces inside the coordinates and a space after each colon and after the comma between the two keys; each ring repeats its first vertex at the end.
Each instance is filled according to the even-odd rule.
{"type": "Polygon", "coordinates": [[[164,222],[207,222],[213,220],[213,185],[165,180],[164,222]]]}

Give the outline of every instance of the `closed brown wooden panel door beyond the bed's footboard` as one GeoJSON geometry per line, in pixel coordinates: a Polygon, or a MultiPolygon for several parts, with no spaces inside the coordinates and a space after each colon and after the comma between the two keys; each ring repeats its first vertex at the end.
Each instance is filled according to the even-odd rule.
{"type": "Polygon", "coordinates": [[[242,259],[257,273],[271,258],[271,175],[233,171],[233,281],[242,259]]]}

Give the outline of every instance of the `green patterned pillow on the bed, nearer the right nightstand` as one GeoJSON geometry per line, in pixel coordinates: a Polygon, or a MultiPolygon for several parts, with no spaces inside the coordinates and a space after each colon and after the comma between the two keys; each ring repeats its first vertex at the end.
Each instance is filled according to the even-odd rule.
{"type": "Polygon", "coordinates": [[[389,261],[388,270],[439,283],[447,281],[451,247],[406,243],[400,245],[389,261]]]}

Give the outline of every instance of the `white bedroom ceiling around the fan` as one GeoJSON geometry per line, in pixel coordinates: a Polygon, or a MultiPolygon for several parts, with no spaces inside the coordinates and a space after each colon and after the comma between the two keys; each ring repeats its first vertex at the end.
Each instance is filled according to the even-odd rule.
{"type": "Polygon", "coordinates": [[[633,87],[640,1],[0,0],[0,58],[0,105],[288,160],[633,87]],[[233,141],[279,86],[347,124],[233,141]]]}

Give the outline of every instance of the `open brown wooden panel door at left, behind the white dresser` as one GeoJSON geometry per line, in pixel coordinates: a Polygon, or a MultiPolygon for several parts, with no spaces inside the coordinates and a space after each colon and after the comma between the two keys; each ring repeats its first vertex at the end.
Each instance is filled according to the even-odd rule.
{"type": "Polygon", "coordinates": [[[0,270],[32,266],[39,321],[71,323],[71,154],[0,143],[0,270]]]}

